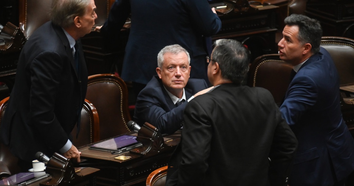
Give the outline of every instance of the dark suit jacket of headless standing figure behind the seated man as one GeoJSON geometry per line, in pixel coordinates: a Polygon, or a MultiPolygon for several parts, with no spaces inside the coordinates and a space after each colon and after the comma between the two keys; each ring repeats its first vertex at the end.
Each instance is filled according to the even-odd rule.
{"type": "MultiPolygon", "coordinates": [[[[191,78],[207,79],[207,36],[221,21],[205,0],[116,0],[101,28],[109,48],[119,43],[119,31],[131,13],[121,77],[147,84],[156,74],[156,57],[167,45],[179,44],[190,54],[191,78]]],[[[210,39],[209,39],[210,40],[210,39]]]]}

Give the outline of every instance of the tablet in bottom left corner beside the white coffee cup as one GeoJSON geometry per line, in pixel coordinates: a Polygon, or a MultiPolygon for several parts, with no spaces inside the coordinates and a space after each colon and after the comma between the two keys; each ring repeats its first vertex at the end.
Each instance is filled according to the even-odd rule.
{"type": "Polygon", "coordinates": [[[41,179],[47,178],[49,175],[44,171],[42,172],[28,172],[28,173],[18,173],[14,174],[8,178],[0,180],[0,186],[3,185],[13,185],[13,186],[24,186],[32,184],[41,179]]]}

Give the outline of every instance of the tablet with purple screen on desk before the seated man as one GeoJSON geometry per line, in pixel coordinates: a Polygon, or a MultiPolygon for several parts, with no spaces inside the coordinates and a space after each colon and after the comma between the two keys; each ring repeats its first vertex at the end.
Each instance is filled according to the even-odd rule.
{"type": "Polygon", "coordinates": [[[119,154],[143,146],[136,136],[121,135],[90,145],[89,149],[119,154]]]}

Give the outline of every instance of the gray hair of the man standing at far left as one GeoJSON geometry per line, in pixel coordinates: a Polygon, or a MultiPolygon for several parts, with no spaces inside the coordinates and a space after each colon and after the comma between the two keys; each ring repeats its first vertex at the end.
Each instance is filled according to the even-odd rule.
{"type": "Polygon", "coordinates": [[[53,24],[67,28],[74,24],[76,16],[84,16],[91,0],[53,0],[51,20],[53,24]]]}

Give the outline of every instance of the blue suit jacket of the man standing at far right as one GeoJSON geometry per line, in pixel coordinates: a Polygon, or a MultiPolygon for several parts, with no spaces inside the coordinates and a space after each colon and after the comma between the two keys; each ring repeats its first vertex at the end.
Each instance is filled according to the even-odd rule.
{"type": "Polygon", "coordinates": [[[299,141],[291,186],[333,185],[352,172],[354,140],[342,117],[337,69],[324,48],[294,76],[280,111],[299,141]]]}

